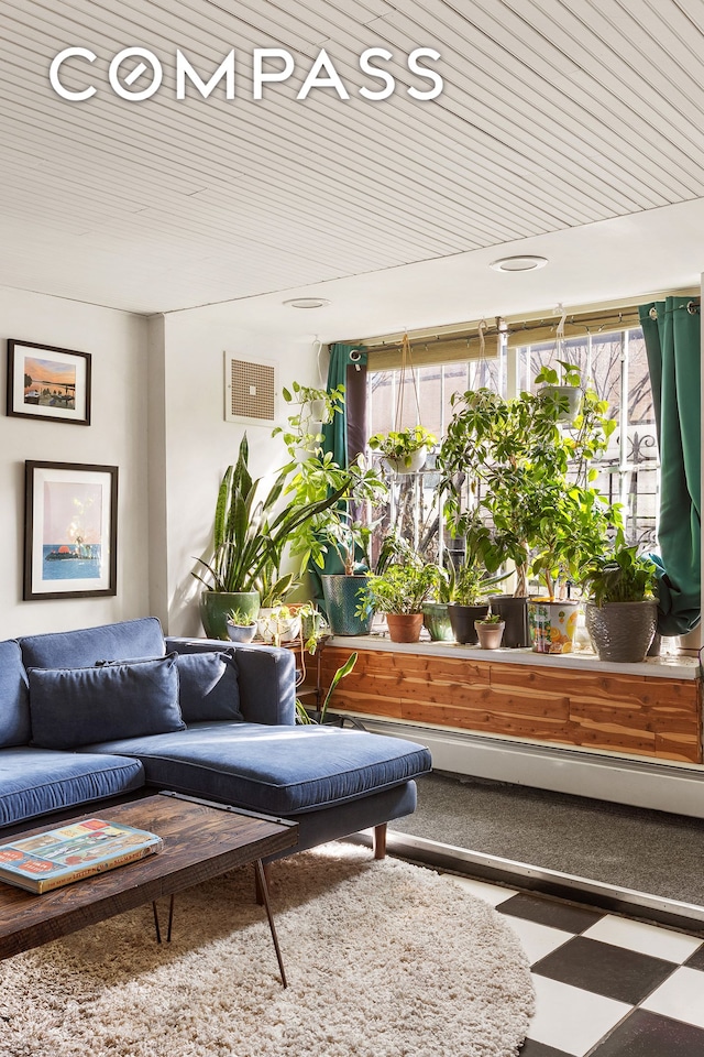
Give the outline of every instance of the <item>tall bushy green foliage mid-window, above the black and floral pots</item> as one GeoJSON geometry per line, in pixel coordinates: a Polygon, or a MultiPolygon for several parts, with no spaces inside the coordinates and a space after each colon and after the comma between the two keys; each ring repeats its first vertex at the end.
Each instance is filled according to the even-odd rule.
{"type": "Polygon", "coordinates": [[[560,425],[560,402],[538,394],[481,389],[455,394],[452,405],[438,455],[448,527],[490,571],[513,562],[517,596],[534,573],[554,598],[619,523],[592,468],[616,426],[606,403],[585,389],[571,429],[560,425]]]}

